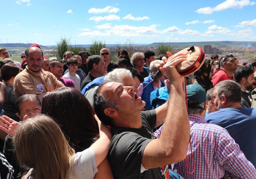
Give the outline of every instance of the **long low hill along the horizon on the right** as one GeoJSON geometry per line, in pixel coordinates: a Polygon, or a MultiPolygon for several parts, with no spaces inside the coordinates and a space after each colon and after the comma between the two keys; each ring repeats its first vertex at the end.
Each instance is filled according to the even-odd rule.
{"type": "MultiPolygon", "coordinates": [[[[148,46],[158,46],[159,43],[155,42],[149,44],[148,46]]],[[[174,47],[183,47],[188,46],[201,46],[211,45],[217,47],[229,47],[229,46],[244,46],[244,47],[256,47],[256,42],[247,42],[247,41],[210,41],[210,42],[166,42],[164,44],[171,44],[174,47]]]]}

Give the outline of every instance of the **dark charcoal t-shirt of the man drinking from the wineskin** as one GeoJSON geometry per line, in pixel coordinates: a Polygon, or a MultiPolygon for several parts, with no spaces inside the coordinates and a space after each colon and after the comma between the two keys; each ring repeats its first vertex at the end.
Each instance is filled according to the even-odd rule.
{"type": "Polygon", "coordinates": [[[108,159],[115,179],[166,178],[165,174],[168,171],[166,166],[148,169],[141,173],[143,151],[155,138],[152,128],[156,124],[156,111],[143,111],[141,118],[141,129],[111,127],[113,137],[110,142],[108,159]]]}

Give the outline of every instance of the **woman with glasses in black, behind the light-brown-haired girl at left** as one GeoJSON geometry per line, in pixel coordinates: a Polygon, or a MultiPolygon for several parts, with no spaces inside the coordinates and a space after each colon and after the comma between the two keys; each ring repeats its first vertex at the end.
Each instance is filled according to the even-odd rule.
{"type": "MultiPolygon", "coordinates": [[[[26,119],[41,114],[41,101],[35,94],[24,94],[18,98],[16,102],[17,116],[20,119],[20,123],[26,119]]],[[[14,179],[20,179],[23,175],[27,173],[27,169],[20,166],[19,161],[16,157],[16,151],[13,148],[13,136],[15,136],[15,129],[19,122],[12,120],[7,116],[0,117],[0,129],[9,135],[6,136],[4,142],[3,154],[6,156],[7,161],[13,166],[14,179]]]]}

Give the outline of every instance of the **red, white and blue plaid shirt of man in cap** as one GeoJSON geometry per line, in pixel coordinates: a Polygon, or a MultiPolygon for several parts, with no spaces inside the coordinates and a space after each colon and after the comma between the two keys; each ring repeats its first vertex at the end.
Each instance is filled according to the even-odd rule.
{"type": "MultiPolygon", "coordinates": [[[[228,131],[218,125],[208,124],[204,118],[189,115],[190,137],[195,159],[195,172],[188,174],[185,171],[186,160],[174,164],[177,171],[184,178],[189,179],[219,179],[231,178],[256,178],[256,170],[243,152],[239,149],[228,131]]],[[[163,125],[155,132],[159,137],[163,125]]],[[[188,172],[193,171],[193,159],[190,145],[187,149],[188,172]]]]}

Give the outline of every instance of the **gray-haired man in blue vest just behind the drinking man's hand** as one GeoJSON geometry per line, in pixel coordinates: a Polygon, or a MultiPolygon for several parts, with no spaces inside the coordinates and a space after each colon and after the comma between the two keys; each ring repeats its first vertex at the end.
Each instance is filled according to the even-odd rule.
{"type": "Polygon", "coordinates": [[[156,65],[160,64],[160,62],[161,62],[160,60],[155,60],[150,63],[150,66],[149,66],[150,74],[148,75],[148,77],[144,78],[144,82],[138,88],[138,96],[141,96],[141,100],[145,101],[146,103],[145,108],[147,110],[152,109],[152,106],[150,104],[151,92],[165,86],[165,83],[160,78],[153,80],[154,74],[156,74],[156,72],[158,71],[158,69],[156,68],[156,65]]]}

